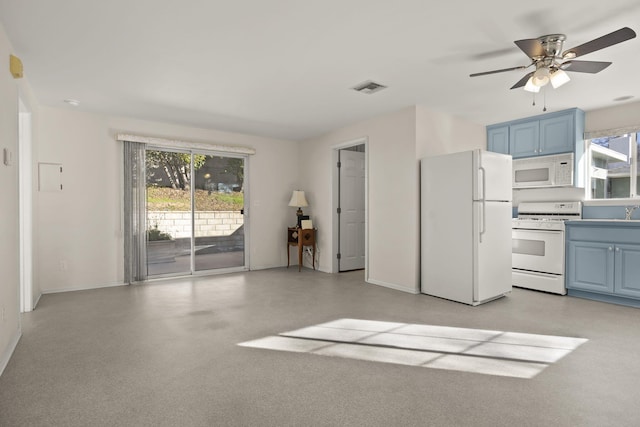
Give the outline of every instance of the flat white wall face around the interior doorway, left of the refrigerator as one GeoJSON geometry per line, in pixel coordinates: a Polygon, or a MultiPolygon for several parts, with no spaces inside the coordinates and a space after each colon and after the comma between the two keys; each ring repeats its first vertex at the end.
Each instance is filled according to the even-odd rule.
{"type": "Polygon", "coordinates": [[[347,126],[301,143],[300,188],[308,194],[318,227],[320,269],[331,271],[332,154],[336,145],[368,138],[367,281],[415,292],[418,204],[415,157],[415,108],[347,126]]]}

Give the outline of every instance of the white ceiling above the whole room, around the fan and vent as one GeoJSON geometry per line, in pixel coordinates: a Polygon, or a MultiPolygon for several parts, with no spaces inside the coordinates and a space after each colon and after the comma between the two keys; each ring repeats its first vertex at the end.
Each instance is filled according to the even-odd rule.
{"type": "MultiPolygon", "coordinates": [[[[420,104],[479,124],[540,114],[510,90],[514,40],[565,49],[628,26],[638,0],[0,0],[0,22],[41,104],[300,140],[420,104]],[[388,86],[365,95],[366,80],[388,86]]],[[[640,100],[640,38],[546,90],[548,111],[640,100]]]]}

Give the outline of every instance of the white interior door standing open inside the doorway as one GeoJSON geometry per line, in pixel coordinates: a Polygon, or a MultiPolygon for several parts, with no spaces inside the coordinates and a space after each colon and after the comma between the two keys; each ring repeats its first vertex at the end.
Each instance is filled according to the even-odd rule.
{"type": "Polygon", "coordinates": [[[340,271],[364,268],[365,153],[340,150],[340,271]]]}

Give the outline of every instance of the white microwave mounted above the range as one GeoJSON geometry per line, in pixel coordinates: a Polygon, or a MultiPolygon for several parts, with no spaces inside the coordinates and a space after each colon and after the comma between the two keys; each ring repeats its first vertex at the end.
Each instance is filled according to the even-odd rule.
{"type": "Polygon", "coordinates": [[[513,159],[513,188],[573,186],[573,153],[513,159]]]}

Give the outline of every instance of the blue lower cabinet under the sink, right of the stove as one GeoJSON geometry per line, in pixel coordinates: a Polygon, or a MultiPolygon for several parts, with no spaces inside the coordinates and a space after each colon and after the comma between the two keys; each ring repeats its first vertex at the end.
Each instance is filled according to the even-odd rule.
{"type": "Polygon", "coordinates": [[[569,221],[566,233],[567,293],[640,307],[639,224],[569,221]]]}

